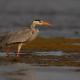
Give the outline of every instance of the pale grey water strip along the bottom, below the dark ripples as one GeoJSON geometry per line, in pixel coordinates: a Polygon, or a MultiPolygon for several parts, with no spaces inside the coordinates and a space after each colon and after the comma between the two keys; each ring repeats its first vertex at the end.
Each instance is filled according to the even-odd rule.
{"type": "Polygon", "coordinates": [[[80,80],[76,67],[39,67],[24,63],[0,66],[0,80],[80,80]]]}

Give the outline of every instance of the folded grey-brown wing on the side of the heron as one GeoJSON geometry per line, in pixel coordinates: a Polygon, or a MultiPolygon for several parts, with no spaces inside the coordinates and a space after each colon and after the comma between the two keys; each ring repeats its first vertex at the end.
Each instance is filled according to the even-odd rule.
{"type": "Polygon", "coordinates": [[[9,35],[7,44],[25,42],[32,36],[32,31],[30,29],[23,29],[9,35]]]}

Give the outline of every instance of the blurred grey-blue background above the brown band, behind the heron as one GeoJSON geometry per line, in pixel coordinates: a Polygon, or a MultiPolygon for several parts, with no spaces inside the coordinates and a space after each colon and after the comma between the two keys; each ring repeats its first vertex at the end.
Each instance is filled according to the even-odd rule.
{"type": "Polygon", "coordinates": [[[34,19],[53,24],[41,36],[79,37],[80,0],[0,0],[0,32],[29,26],[34,19]]]}

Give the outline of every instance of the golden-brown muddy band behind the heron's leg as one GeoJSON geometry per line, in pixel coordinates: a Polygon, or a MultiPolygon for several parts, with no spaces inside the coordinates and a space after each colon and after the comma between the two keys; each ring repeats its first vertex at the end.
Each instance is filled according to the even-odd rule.
{"type": "MultiPolygon", "coordinates": [[[[80,52],[80,39],[79,38],[43,38],[38,37],[31,42],[25,42],[21,52],[34,52],[34,51],[51,51],[51,50],[61,50],[64,52],[80,52]]],[[[5,51],[9,48],[11,52],[17,51],[17,43],[9,44],[1,48],[5,51]]]]}

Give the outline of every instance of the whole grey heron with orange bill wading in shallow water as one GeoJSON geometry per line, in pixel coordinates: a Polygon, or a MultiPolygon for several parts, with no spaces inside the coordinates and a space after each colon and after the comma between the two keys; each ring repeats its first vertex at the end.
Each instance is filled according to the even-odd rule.
{"type": "Polygon", "coordinates": [[[50,25],[51,24],[48,23],[47,21],[34,20],[30,28],[25,28],[23,30],[16,31],[12,34],[8,34],[8,36],[4,38],[3,42],[6,44],[18,43],[16,55],[19,56],[20,50],[24,42],[32,41],[37,37],[39,29],[36,28],[36,26],[50,26],[50,25]]]}

